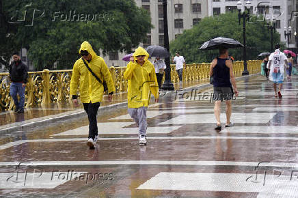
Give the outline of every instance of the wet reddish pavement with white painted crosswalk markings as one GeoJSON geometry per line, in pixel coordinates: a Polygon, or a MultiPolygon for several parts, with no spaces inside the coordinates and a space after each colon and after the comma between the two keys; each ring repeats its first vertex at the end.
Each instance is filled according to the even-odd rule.
{"type": "Polygon", "coordinates": [[[282,98],[263,76],[238,79],[234,126],[224,127],[223,102],[221,131],[213,129],[212,88],[197,87],[163,92],[150,105],[146,146],[138,144],[125,103],[98,114],[95,150],[86,145],[87,116],[63,117],[82,109],[28,109],[24,119],[62,118],[10,132],[5,126],[17,121],[3,121],[0,195],[298,197],[298,77],[284,82],[282,98]]]}

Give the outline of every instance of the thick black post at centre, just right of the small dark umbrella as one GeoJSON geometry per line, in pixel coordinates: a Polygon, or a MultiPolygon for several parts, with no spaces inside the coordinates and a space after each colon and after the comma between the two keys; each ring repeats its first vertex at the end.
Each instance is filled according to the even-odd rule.
{"type": "MultiPolygon", "coordinates": [[[[170,51],[169,45],[169,33],[167,29],[167,0],[163,0],[163,35],[165,40],[165,48],[167,51],[170,51]]],[[[171,66],[170,66],[170,57],[165,58],[165,82],[163,82],[162,89],[165,90],[174,90],[174,85],[171,81],[171,66]]]]}

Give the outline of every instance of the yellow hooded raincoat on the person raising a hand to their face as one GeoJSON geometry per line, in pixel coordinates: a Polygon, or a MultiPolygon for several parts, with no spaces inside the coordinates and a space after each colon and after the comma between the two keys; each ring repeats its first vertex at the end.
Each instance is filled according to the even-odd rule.
{"type": "Polygon", "coordinates": [[[143,66],[136,61],[130,61],[124,72],[124,79],[128,80],[128,108],[148,107],[150,92],[154,98],[159,98],[159,85],[155,74],[154,66],[148,61],[148,53],[144,48],[138,47],[133,53],[137,56],[146,55],[143,66]]]}

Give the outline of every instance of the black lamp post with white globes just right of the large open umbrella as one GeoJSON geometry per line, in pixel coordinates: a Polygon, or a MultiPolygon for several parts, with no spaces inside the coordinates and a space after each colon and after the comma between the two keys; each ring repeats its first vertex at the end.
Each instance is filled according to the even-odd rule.
{"type": "Polygon", "coordinates": [[[252,3],[247,0],[245,2],[245,8],[243,9],[243,12],[241,13],[242,11],[242,2],[241,1],[238,1],[237,2],[237,9],[238,9],[238,20],[239,20],[239,25],[240,25],[240,22],[241,22],[241,18],[243,18],[243,62],[244,62],[244,69],[243,69],[243,72],[242,72],[242,75],[245,76],[245,75],[248,75],[249,72],[247,70],[247,61],[246,61],[246,34],[245,34],[245,20],[246,18],[248,19],[249,18],[249,12],[245,12],[247,11],[249,8],[250,8],[250,5],[252,3]]]}

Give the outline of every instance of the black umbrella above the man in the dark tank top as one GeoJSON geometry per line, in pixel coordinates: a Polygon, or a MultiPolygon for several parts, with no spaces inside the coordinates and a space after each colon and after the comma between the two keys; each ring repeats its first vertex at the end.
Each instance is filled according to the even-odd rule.
{"type": "Polygon", "coordinates": [[[202,46],[199,48],[200,50],[212,50],[212,49],[219,49],[219,48],[241,48],[243,44],[239,41],[234,40],[232,38],[223,38],[217,37],[207,42],[204,42],[202,46]]]}

